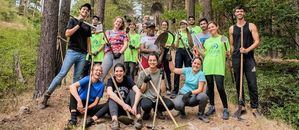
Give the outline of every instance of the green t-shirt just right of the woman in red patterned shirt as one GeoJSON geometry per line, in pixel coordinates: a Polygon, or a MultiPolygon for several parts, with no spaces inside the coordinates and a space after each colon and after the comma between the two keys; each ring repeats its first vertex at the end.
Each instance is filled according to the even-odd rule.
{"type": "Polygon", "coordinates": [[[139,34],[129,34],[129,44],[124,53],[125,62],[137,62],[136,57],[138,56],[138,49],[140,47],[140,35],[139,34]],[[129,45],[135,47],[135,49],[130,49],[129,45]]]}

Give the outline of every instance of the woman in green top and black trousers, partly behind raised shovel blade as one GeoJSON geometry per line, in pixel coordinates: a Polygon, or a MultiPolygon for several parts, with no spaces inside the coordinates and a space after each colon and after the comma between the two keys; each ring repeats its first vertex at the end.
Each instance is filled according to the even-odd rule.
{"type": "Polygon", "coordinates": [[[166,41],[165,46],[163,48],[164,52],[163,52],[163,58],[162,58],[162,65],[163,65],[164,72],[165,72],[165,77],[166,77],[166,80],[167,80],[167,82],[166,82],[166,86],[167,86],[166,93],[167,93],[167,95],[170,95],[170,91],[171,91],[172,87],[171,87],[171,76],[170,76],[171,71],[169,69],[168,60],[169,60],[169,58],[171,58],[171,48],[173,47],[173,43],[174,43],[175,39],[174,39],[173,34],[168,31],[168,28],[169,28],[168,21],[163,20],[161,22],[160,27],[161,27],[161,30],[159,30],[157,32],[157,35],[160,35],[164,32],[168,32],[168,38],[167,38],[167,41],[166,41]]]}

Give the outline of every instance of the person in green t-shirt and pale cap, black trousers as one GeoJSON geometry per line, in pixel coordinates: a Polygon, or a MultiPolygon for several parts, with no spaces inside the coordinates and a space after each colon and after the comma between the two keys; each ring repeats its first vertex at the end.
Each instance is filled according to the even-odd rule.
{"type": "MultiPolygon", "coordinates": [[[[185,67],[191,66],[192,53],[190,48],[193,47],[193,41],[191,34],[187,28],[188,22],[186,20],[180,21],[180,32],[176,35],[176,39],[174,41],[176,47],[175,53],[175,67],[182,68],[183,64],[185,67]]],[[[180,85],[180,75],[174,75],[174,88],[171,93],[171,98],[175,98],[175,96],[179,92],[180,85]]]]}

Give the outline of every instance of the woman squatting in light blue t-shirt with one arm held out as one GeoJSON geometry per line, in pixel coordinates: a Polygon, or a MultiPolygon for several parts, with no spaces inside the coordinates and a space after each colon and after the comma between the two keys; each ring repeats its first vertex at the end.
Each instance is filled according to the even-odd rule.
{"type": "Polygon", "coordinates": [[[186,118],[185,106],[193,107],[198,105],[198,119],[208,123],[209,120],[204,115],[208,96],[203,92],[206,79],[204,72],[200,70],[201,63],[199,58],[194,58],[192,67],[174,68],[173,63],[169,64],[171,71],[176,74],[183,74],[185,77],[184,86],[180,89],[173,103],[181,118],[186,118]]]}

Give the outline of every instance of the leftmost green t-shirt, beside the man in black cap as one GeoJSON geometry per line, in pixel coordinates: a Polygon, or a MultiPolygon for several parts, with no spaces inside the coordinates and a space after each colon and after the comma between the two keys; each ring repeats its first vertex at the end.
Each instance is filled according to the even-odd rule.
{"type": "MultiPolygon", "coordinates": [[[[105,44],[103,33],[92,34],[91,40],[91,52],[94,53],[99,50],[99,48],[105,44]]],[[[89,55],[86,56],[86,60],[88,60],[89,55]]],[[[104,50],[101,50],[98,55],[96,55],[93,59],[94,62],[102,62],[104,59],[104,50]]]]}

